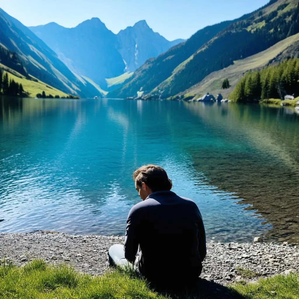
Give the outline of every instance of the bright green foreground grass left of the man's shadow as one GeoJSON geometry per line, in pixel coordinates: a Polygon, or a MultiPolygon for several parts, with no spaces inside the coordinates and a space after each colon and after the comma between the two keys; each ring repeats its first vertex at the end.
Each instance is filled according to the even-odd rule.
{"type": "Polygon", "coordinates": [[[80,274],[67,265],[48,266],[33,260],[25,267],[0,266],[1,299],[121,299],[164,298],[150,291],[144,280],[121,270],[104,276],[80,274]]]}

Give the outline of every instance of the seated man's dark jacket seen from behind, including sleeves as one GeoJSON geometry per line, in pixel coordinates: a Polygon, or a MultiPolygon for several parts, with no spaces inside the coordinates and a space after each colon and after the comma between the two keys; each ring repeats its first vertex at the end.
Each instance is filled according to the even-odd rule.
{"type": "Polygon", "coordinates": [[[153,281],[198,277],[206,255],[205,229],[196,204],[171,191],[156,191],[128,216],[125,257],[153,281]]]}

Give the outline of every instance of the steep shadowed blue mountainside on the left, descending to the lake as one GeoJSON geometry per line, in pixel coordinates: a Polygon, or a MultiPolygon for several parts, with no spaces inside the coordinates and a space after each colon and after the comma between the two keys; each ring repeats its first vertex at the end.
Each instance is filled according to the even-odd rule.
{"type": "Polygon", "coordinates": [[[15,52],[26,73],[65,93],[100,95],[98,89],[74,74],[41,39],[0,8],[0,47],[15,52]]]}

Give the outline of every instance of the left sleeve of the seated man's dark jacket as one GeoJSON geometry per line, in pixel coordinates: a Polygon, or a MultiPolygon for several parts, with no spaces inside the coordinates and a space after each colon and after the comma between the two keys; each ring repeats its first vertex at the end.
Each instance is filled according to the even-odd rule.
{"type": "Polygon", "coordinates": [[[132,264],[135,262],[135,257],[138,251],[139,245],[139,229],[140,225],[138,223],[137,213],[134,207],[130,210],[125,235],[125,258],[132,264]]]}

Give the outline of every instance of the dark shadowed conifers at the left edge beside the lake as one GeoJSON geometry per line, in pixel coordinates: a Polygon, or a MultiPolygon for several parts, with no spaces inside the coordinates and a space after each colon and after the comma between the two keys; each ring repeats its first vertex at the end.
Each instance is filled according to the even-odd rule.
{"type": "Polygon", "coordinates": [[[12,97],[29,97],[29,93],[24,91],[22,83],[17,83],[13,79],[8,79],[8,74],[0,68],[0,94],[12,97]]]}

